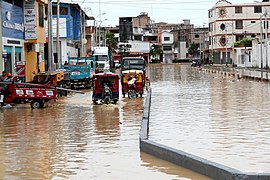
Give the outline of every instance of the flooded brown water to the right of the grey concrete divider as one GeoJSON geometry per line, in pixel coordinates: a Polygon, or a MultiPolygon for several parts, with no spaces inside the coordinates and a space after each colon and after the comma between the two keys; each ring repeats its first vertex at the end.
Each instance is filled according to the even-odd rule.
{"type": "Polygon", "coordinates": [[[150,139],[244,172],[270,172],[270,84],[153,66],[150,139]]]}

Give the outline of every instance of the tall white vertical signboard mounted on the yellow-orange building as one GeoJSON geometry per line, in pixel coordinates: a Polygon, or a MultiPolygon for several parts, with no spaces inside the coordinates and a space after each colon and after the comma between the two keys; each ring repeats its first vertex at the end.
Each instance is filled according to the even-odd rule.
{"type": "Polygon", "coordinates": [[[25,1],[24,26],[25,40],[37,39],[37,17],[35,0],[25,1]]]}

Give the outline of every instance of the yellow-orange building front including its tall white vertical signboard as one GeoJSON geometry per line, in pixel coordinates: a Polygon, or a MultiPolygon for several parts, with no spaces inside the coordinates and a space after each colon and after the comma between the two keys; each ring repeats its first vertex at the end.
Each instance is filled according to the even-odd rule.
{"type": "Polygon", "coordinates": [[[32,81],[35,73],[45,71],[45,8],[47,4],[47,0],[27,0],[23,5],[26,82],[32,81]]]}

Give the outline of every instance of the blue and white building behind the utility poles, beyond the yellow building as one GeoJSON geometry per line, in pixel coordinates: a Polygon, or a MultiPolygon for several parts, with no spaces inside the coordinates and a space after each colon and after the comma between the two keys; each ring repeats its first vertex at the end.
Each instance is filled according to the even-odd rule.
{"type": "MultiPolygon", "coordinates": [[[[78,4],[75,3],[60,3],[60,15],[59,15],[59,49],[60,62],[57,61],[56,56],[56,18],[57,18],[57,4],[52,5],[52,18],[53,18],[53,37],[54,37],[54,62],[61,66],[68,56],[72,57],[84,57],[86,53],[91,51],[89,44],[87,44],[86,37],[86,20],[90,20],[90,17],[81,9],[78,4]],[[87,46],[86,46],[87,45],[87,46]]],[[[89,36],[88,36],[89,37],[89,36]]],[[[89,41],[91,42],[91,40],[89,41]]],[[[91,47],[91,46],[90,46],[91,47]]]]}

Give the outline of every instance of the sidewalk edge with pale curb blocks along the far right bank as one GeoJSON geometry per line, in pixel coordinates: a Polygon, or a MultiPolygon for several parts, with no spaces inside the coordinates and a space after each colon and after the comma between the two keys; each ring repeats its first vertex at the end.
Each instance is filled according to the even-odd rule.
{"type": "Polygon", "coordinates": [[[229,76],[232,75],[239,79],[252,79],[266,82],[270,81],[270,71],[266,69],[232,67],[226,66],[225,64],[214,64],[213,66],[204,65],[201,68],[211,73],[221,73],[229,76]]]}

